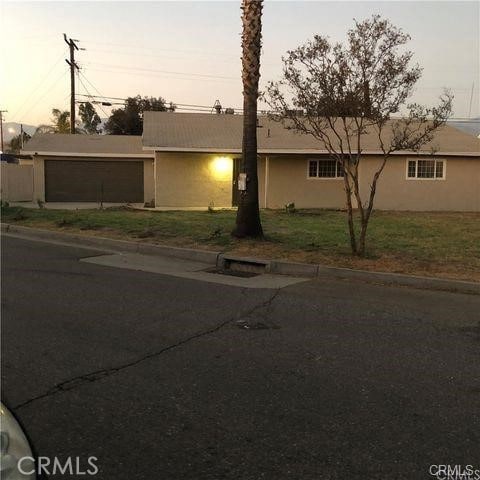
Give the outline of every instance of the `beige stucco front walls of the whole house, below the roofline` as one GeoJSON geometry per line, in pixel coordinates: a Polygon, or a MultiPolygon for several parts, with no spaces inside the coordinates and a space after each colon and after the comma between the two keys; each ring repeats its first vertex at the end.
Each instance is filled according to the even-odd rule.
{"type": "MultiPolygon", "coordinates": [[[[145,202],[155,198],[157,207],[207,208],[210,204],[216,208],[231,207],[233,159],[236,157],[238,155],[221,153],[156,152],[155,161],[143,160],[145,202]]],[[[345,206],[343,179],[308,178],[309,158],[316,157],[260,157],[258,177],[261,208],[284,208],[290,202],[294,202],[297,208],[345,206]]],[[[392,157],[388,161],[378,183],[375,208],[480,211],[480,158],[445,157],[445,180],[407,180],[406,158],[392,157]]],[[[379,161],[378,157],[364,157],[362,160],[360,184],[364,197],[368,194],[379,161]]],[[[44,179],[44,158],[35,156],[33,201],[45,200],[44,179]]]]}

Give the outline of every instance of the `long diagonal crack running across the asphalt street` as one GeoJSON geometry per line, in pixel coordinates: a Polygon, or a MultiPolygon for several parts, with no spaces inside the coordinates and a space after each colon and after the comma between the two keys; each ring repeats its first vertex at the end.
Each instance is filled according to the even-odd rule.
{"type": "Polygon", "coordinates": [[[262,303],[260,303],[258,305],[255,305],[254,307],[250,308],[247,312],[245,312],[243,314],[239,314],[239,315],[237,314],[235,317],[231,317],[231,318],[217,324],[216,326],[214,326],[212,328],[209,328],[207,330],[203,330],[203,331],[198,332],[194,335],[191,335],[187,338],[184,338],[183,340],[180,340],[179,342],[174,343],[172,345],[168,345],[167,347],[164,347],[157,352],[149,353],[148,355],[144,355],[143,357],[140,357],[140,358],[138,358],[136,360],[133,360],[131,362],[128,362],[128,363],[124,363],[122,365],[118,365],[116,367],[110,367],[110,368],[105,368],[105,369],[101,369],[101,370],[95,370],[93,372],[90,372],[90,373],[87,373],[87,374],[84,374],[84,375],[78,375],[78,376],[75,376],[75,377],[70,378],[68,380],[64,380],[63,382],[57,383],[56,385],[54,385],[53,387],[48,389],[45,393],[42,393],[42,394],[37,395],[35,397],[32,397],[28,400],[25,400],[24,402],[19,403],[18,405],[15,405],[14,407],[12,407],[12,410],[19,410],[19,409],[24,408],[28,405],[31,405],[32,403],[36,402],[37,400],[41,400],[43,398],[50,397],[52,395],[56,395],[57,393],[67,392],[69,390],[73,390],[74,388],[80,387],[82,385],[85,385],[85,384],[88,384],[88,383],[93,383],[93,382],[96,382],[98,380],[101,380],[102,378],[106,378],[106,377],[109,377],[111,375],[115,375],[118,372],[121,372],[121,371],[126,370],[126,369],[131,368],[131,367],[134,367],[134,366],[136,366],[136,365],[138,365],[138,364],[140,364],[140,363],[142,363],[146,360],[149,360],[149,359],[154,358],[154,357],[158,357],[158,356],[160,356],[160,355],[162,355],[162,354],[164,354],[164,353],[166,353],[170,350],[181,347],[182,345],[185,345],[185,344],[191,342],[192,340],[196,340],[198,338],[202,338],[202,337],[205,337],[207,335],[211,335],[213,333],[216,333],[219,330],[221,330],[223,327],[225,327],[228,324],[234,322],[235,320],[239,321],[242,318],[248,318],[249,316],[253,315],[257,310],[262,310],[263,308],[269,309],[270,306],[272,305],[272,303],[275,301],[276,297],[279,295],[279,293],[280,293],[280,288],[276,289],[275,292],[273,293],[273,295],[270,296],[270,298],[268,298],[267,300],[263,301],[262,303]]]}

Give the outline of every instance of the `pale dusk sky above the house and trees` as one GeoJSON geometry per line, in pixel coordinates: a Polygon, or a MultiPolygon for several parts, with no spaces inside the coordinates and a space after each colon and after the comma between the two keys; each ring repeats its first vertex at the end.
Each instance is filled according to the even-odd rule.
{"type": "MultiPolygon", "coordinates": [[[[78,39],[78,94],[162,96],[182,104],[242,105],[240,0],[224,2],[0,2],[0,108],[6,121],[48,123],[69,109],[63,33],[78,39]]],[[[478,2],[279,2],[263,16],[262,83],[281,56],[314,34],[343,41],[353,18],[374,13],[409,33],[424,67],[413,100],[433,105],[449,87],[454,116],[479,107],[478,2]],[[474,84],[471,100],[472,84],[474,84]]],[[[86,99],[80,97],[79,99],[86,99]]],[[[98,111],[101,117],[109,107],[98,111]]]]}

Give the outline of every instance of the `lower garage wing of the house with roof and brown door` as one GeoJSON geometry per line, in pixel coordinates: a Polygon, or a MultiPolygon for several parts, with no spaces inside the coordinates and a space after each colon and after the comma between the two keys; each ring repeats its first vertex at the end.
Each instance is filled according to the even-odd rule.
{"type": "Polygon", "coordinates": [[[35,201],[145,203],[154,199],[153,154],[139,136],[35,134],[35,201]]]}

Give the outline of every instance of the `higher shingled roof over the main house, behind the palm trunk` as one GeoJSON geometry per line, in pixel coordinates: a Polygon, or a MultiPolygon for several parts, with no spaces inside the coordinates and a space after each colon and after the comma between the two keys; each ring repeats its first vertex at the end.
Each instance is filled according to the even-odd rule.
{"type": "MultiPolygon", "coordinates": [[[[144,150],[238,153],[242,148],[242,115],[205,113],[145,112],[144,150]]],[[[326,153],[311,135],[286,129],[267,117],[259,117],[259,153],[326,153]]],[[[480,156],[480,141],[472,135],[444,126],[431,144],[423,148],[437,154],[480,156]]],[[[364,153],[381,153],[372,132],[362,139],[364,153]]],[[[405,153],[405,152],[397,152],[405,153]]]]}

